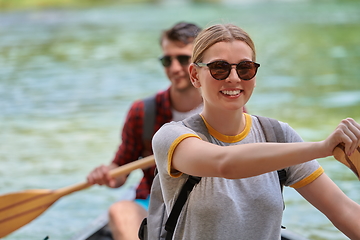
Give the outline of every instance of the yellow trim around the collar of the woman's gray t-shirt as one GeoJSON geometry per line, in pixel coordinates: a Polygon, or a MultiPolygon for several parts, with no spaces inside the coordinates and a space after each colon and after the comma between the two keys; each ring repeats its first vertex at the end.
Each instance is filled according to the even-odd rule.
{"type": "Polygon", "coordinates": [[[212,135],[216,139],[218,139],[218,140],[220,140],[222,142],[226,142],[226,143],[239,142],[239,141],[243,140],[249,134],[250,128],[251,128],[251,125],[252,125],[251,116],[249,114],[247,114],[247,113],[244,113],[244,115],[245,115],[245,128],[244,128],[244,130],[241,133],[239,133],[238,135],[228,136],[228,135],[224,135],[224,134],[219,133],[218,131],[216,131],[213,127],[210,126],[209,123],[206,122],[205,118],[200,114],[200,116],[204,120],[204,123],[205,123],[210,135],[212,135]]]}

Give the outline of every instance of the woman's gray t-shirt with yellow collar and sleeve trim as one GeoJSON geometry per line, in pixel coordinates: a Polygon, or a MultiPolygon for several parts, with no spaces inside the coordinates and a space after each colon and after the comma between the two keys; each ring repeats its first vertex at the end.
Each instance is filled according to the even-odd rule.
{"type": "MultiPolygon", "coordinates": [[[[187,137],[208,136],[220,146],[265,142],[256,117],[246,114],[245,130],[237,136],[216,132],[195,115],[183,122],[165,124],[153,138],[153,150],[162,194],[169,214],[187,174],[171,169],[172,152],[187,137]]],[[[300,136],[280,122],[286,142],[301,142],[300,136]]],[[[239,156],[241,158],[241,156],[239,156]]],[[[286,168],[285,185],[298,188],[316,179],[323,169],[316,160],[286,168]]],[[[283,199],[276,171],[243,179],[203,177],[190,193],[180,214],[173,239],[280,239],[283,199]]]]}

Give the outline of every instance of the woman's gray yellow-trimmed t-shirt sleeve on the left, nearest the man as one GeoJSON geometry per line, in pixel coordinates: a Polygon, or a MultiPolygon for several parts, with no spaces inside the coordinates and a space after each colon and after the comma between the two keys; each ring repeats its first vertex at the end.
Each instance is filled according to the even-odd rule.
{"type": "Polygon", "coordinates": [[[171,161],[178,144],[188,137],[201,139],[193,130],[184,126],[182,122],[166,123],[155,133],[152,146],[159,172],[167,173],[172,177],[181,176],[181,172],[171,167],[171,161]]]}

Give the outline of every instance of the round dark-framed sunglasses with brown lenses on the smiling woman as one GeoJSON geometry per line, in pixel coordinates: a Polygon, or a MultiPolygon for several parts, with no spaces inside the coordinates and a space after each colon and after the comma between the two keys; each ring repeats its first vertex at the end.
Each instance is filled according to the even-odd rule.
{"type": "Polygon", "coordinates": [[[225,61],[215,61],[211,63],[195,63],[199,67],[208,67],[210,74],[216,80],[225,80],[229,77],[232,66],[236,66],[236,73],[241,80],[251,80],[255,77],[260,64],[252,61],[242,61],[238,64],[230,64],[225,61]]]}

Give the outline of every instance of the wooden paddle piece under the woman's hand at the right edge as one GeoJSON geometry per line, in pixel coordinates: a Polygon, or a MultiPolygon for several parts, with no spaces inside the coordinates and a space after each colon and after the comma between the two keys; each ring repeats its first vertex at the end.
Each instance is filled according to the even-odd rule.
{"type": "Polygon", "coordinates": [[[360,145],[351,156],[348,156],[344,144],[339,144],[335,147],[333,155],[336,160],[350,168],[360,180],[360,145]]]}

